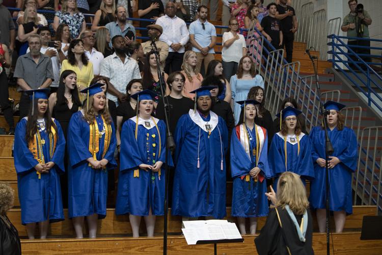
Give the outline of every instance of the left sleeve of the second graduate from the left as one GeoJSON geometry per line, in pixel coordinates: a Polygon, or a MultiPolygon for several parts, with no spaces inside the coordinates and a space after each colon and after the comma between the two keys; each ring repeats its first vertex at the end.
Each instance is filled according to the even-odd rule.
{"type": "Polygon", "coordinates": [[[69,121],[67,142],[72,167],[92,157],[89,146],[85,144],[84,139],[81,137],[83,133],[83,130],[81,130],[81,122],[83,121],[85,120],[80,112],[73,114],[69,121]]]}

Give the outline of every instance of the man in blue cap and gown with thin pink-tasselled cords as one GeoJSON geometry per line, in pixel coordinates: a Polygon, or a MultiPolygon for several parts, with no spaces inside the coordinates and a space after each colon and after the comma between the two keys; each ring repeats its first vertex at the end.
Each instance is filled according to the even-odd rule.
{"type": "Polygon", "coordinates": [[[223,118],[210,111],[213,88],[192,92],[196,108],[180,117],[175,129],[173,215],[226,216],[228,130],[223,118]]]}

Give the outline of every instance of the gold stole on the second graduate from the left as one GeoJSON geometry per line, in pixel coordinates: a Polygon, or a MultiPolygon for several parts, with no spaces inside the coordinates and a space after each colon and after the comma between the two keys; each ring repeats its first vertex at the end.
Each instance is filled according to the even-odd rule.
{"type": "MultiPolygon", "coordinates": [[[[102,152],[102,159],[105,157],[106,151],[110,146],[110,140],[112,139],[112,126],[110,124],[106,124],[105,119],[102,117],[103,121],[103,130],[105,131],[105,137],[104,137],[104,146],[103,146],[103,152],[102,152]]],[[[89,125],[90,132],[89,132],[89,151],[93,156],[94,160],[97,160],[97,152],[99,151],[99,130],[98,130],[98,124],[97,120],[94,118],[93,123],[89,125]]],[[[92,166],[89,163],[89,166],[92,166]]],[[[103,167],[105,169],[105,166],[103,167]]]]}

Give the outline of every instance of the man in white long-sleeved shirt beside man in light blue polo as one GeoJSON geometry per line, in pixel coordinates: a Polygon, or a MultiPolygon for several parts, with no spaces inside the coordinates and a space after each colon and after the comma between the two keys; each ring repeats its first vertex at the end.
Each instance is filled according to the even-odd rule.
{"type": "Polygon", "coordinates": [[[156,24],[163,28],[159,40],[169,45],[169,56],[166,59],[165,72],[180,71],[183,62],[184,45],[188,42],[189,34],[186,23],[175,16],[176,7],[173,2],[168,2],[165,8],[165,16],[156,20],[156,24]]]}

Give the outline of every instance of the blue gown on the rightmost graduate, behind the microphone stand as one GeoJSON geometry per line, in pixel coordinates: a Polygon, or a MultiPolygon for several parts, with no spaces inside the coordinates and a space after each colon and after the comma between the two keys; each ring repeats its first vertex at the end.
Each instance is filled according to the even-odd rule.
{"type": "MultiPolygon", "coordinates": [[[[328,130],[334,152],[331,156],[341,162],[329,169],[330,210],[352,213],[351,174],[357,168],[358,146],[357,137],[348,127],[342,131],[328,130]]],[[[309,135],[312,141],[312,158],[316,178],[310,183],[309,201],[312,208],[325,209],[325,167],[320,167],[316,160],[325,159],[325,132],[321,127],[314,127],[309,135]]]]}

